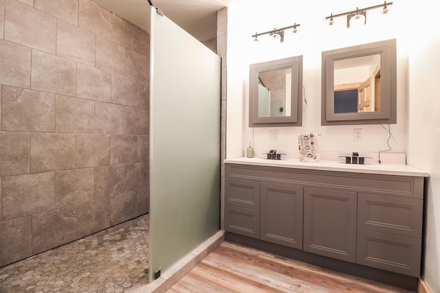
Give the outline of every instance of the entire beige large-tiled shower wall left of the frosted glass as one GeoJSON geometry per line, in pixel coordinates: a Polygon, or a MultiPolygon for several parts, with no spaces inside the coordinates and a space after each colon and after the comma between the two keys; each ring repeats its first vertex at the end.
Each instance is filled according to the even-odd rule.
{"type": "Polygon", "coordinates": [[[149,34],[0,0],[0,266],[148,212],[149,34]]]}

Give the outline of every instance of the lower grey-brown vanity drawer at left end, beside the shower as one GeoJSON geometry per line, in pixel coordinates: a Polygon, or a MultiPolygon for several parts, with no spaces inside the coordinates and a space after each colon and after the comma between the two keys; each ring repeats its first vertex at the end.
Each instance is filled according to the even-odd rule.
{"type": "Polygon", "coordinates": [[[259,239],[260,212],[225,204],[225,231],[259,239]]]}

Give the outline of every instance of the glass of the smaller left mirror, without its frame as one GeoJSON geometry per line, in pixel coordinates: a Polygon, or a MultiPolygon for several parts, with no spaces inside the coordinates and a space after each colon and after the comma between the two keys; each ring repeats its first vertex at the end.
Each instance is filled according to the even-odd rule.
{"type": "Polygon", "coordinates": [[[259,72],[259,117],[290,116],[292,68],[259,72]]]}

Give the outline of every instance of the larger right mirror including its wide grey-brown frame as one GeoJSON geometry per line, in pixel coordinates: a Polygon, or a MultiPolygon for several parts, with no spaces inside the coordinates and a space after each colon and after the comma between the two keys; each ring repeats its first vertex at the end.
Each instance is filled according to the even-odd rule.
{"type": "Polygon", "coordinates": [[[396,40],[322,52],[322,125],[395,124],[396,40]]]}

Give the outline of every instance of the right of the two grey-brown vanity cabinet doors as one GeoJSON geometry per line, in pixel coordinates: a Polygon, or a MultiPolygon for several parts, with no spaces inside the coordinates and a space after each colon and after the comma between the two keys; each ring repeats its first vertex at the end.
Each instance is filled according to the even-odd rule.
{"type": "Polygon", "coordinates": [[[357,194],[304,189],[304,250],[355,262],[357,194]]]}

